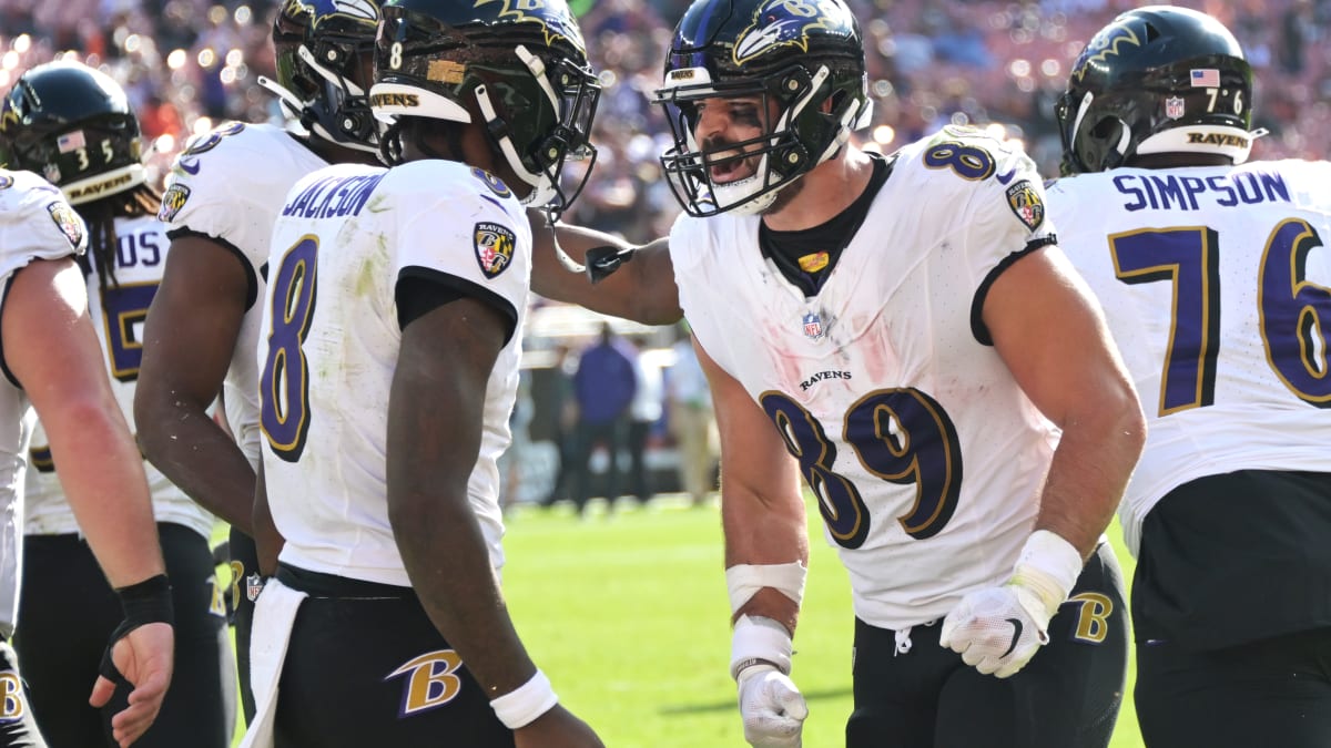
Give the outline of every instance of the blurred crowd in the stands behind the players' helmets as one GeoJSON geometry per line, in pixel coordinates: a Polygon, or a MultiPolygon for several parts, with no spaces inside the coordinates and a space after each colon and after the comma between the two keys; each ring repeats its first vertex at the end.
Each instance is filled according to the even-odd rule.
{"type": "MultiPolygon", "coordinates": [[[[869,49],[874,124],[869,148],[892,150],[942,124],[993,128],[1021,140],[1041,170],[1058,169],[1053,102],[1069,61],[1134,0],[849,0],[869,49]]],[[[1255,157],[1322,158],[1331,137],[1331,0],[1190,0],[1233,28],[1256,68],[1255,157]]],[[[57,56],[121,81],[162,174],[193,133],[218,121],[280,117],[258,76],[273,75],[274,3],[226,0],[0,0],[0,91],[57,56]]],[[[656,157],[668,128],[647,93],[688,0],[572,0],[606,93],[596,177],[571,221],[644,241],[677,208],[656,157]]]]}

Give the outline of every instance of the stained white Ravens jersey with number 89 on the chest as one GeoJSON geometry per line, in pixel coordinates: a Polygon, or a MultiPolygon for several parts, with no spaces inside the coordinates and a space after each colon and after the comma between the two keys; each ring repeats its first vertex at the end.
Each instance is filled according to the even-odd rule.
{"type": "Polygon", "coordinates": [[[684,216],[671,232],[693,334],[797,457],[873,626],[937,620],[1001,583],[1034,527],[1057,433],[980,305],[1049,242],[1042,194],[1021,150],[945,128],[900,152],[808,298],[763,257],[759,217],[684,216]]]}

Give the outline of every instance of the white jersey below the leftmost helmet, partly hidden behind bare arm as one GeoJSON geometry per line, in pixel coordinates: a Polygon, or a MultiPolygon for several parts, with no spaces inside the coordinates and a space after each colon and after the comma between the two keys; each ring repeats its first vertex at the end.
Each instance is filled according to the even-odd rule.
{"type": "MultiPolygon", "coordinates": [[[[116,280],[105,293],[97,282],[96,268],[88,276],[88,310],[97,327],[101,350],[106,351],[106,371],[125,422],[134,425],[134,382],[142,359],[142,329],[148,306],[157,293],[166,264],[166,226],[154,217],[117,218],[116,280]]],[[[73,510],[65,499],[60,479],[51,462],[47,435],[37,423],[32,439],[32,467],[24,483],[24,531],[28,535],[79,532],[73,510]]],[[[213,515],[184,491],[172,484],[153,465],[144,461],[148,487],[157,522],[184,524],[209,538],[213,515]]]]}

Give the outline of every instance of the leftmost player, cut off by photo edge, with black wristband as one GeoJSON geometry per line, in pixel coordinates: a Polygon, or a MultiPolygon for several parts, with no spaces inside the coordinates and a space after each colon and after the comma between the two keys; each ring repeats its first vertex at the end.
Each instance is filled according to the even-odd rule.
{"type": "MultiPolygon", "coordinates": [[[[4,112],[5,126],[13,125],[4,112]]],[[[112,717],[118,745],[152,725],[172,676],[172,592],[157,543],[142,459],[106,378],[106,357],[88,314],[73,256],[87,228],[60,189],[31,172],[0,170],[0,745],[45,747],[19,673],[13,635],[19,603],[21,483],[32,410],[45,425],[60,482],[88,546],[122,608],[105,640],[89,703],[132,688],[112,717]],[[29,405],[31,403],[31,405],[29,405]]],[[[88,681],[85,680],[84,684],[88,681]]]]}

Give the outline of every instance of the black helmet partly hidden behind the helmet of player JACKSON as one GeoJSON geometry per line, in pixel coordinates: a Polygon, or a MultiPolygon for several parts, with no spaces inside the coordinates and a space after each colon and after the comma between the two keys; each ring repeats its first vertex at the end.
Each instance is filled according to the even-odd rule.
{"type": "Polygon", "coordinates": [[[273,23],[277,81],[260,79],[260,85],[310,133],[378,152],[379,128],[355,83],[370,75],[378,25],[377,0],[282,0],[273,23]]]}

